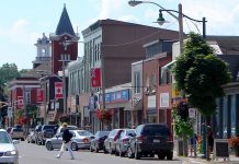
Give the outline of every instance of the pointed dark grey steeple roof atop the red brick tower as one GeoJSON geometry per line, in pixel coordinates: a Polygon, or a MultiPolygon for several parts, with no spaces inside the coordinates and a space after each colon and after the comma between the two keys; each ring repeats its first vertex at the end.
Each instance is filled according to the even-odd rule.
{"type": "Polygon", "coordinates": [[[64,4],[64,11],[60,15],[60,20],[56,28],[56,35],[61,35],[64,33],[76,36],[69,15],[67,13],[66,4],[64,4]]]}

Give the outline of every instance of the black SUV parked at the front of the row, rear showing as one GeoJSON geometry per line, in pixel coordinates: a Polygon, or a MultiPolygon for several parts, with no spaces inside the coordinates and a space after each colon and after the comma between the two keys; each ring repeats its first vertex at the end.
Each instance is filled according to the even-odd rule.
{"type": "Polygon", "coordinates": [[[153,157],[158,155],[160,160],[173,157],[173,138],[170,129],[164,124],[146,124],[135,129],[136,136],[130,138],[127,150],[128,157],[139,160],[141,156],[153,157]]]}

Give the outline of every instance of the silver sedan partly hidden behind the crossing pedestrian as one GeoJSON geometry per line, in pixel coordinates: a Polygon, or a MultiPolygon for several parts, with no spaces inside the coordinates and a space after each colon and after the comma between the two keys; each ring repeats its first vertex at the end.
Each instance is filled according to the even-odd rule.
{"type": "MultiPolygon", "coordinates": [[[[70,130],[73,137],[71,139],[71,150],[90,149],[90,141],[93,134],[88,130],[70,130]]],[[[53,138],[46,140],[46,149],[52,151],[60,149],[62,144],[62,132],[55,134],[53,138]]]]}

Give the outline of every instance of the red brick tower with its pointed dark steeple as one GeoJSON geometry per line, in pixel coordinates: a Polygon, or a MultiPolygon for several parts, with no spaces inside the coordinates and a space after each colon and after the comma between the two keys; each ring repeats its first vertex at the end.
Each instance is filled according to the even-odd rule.
{"type": "Polygon", "coordinates": [[[52,40],[52,73],[62,71],[69,61],[77,60],[79,35],[75,33],[66,4],[64,5],[56,32],[49,36],[52,40]]]}

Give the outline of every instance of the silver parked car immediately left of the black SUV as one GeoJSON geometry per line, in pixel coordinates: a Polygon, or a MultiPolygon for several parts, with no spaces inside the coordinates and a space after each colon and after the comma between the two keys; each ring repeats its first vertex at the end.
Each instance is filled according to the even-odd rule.
{"type": "Polygon", "coordinates": [[[135,129],[123,129],[121,136],[116,140],[115,155],[125,156],[130,138],[135,137],[135,129]]]}

